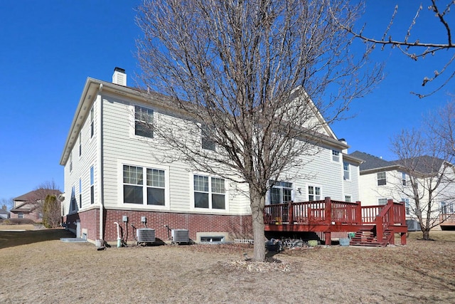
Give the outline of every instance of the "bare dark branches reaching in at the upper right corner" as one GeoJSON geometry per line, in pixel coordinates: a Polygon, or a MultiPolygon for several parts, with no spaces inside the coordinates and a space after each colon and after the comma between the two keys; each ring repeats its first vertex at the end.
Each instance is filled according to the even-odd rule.
{"type": "MultiPolygon", "coordinates": [[[[424,6],[420,4],[418,8],[416,9],[416,12],[414,14],[414,17],[412,20],[410,20],[410,26],[405,29],[403,28],[403,33],[402,33],[402,38],[395,38],[392,37],[392,25],[395,21],[397,21],[399,16],[399,6],[395,6],[395,10],[392,13],[392,16],[390,18],[390,22],[387,25],[387,28],[385,28],[384,33],[382,33],[381,38],[373,38],[372,36],[369,36],[368,34],[364,33],[364,30],[366,28],[366,24],[363,25],[360,30],[356,30],[353,26],[345,26],[344,24],[340,24],[340,26],[343,26],[343,28],[346,29],[349,33],[351,33],[354,37],[360,38],[361,40],[368,42],[368,43],[373,43],[373,45],[379,45],[381,46],[381,49],[383,50],[385,46],[391,46],[392,48],[397,48],[400,50],[405,56],[411,58],[414,61],[418,61],[419,59],[423,59],[427,56],[434,56],[436,53],[439,53],[440,51],[449,51],[451,54],[451,57],[446,61],[446,63],[442,66],[437,67],[437,69],[434,70],[433,75],[431,76],[424,76],[422,80],[422,86],[427,85],[427,83],[432,82],[436,78],[443,78],[441,75],[446,75],[445,79],[441,79],[441,84],[434,90],[432,90],[428,94],[421,94],[421,93],[415,93],[412,92],[414,95],[417,95],[419,98],[424,98],[429,95],[432,95],[436,93],[438,90],[444,87],[447,83],[449,83],[452,78],[455,76],[455,69],[454,69],[454,61],[455,61],[455,52],[453,51],[455,49],[455,44],[453,41],[452,33],[451,33],[451,22],[454,21],[454,19],[450,18],[449,13],[451,12],[451,9],[455,5],[455,1],[453,0],[447,0],[445,1],[445,4],[440,4],[437,3],[436,0],[429,0],[427,2],[427,11],[425,11],[424,6]],[[434,17],[434,19],[432,19],[434,17]],[[426,21],[426,26],[424,28],[433,28],[434,33],[440,33],[442,36],[445,36],[446,40],[439,42],[439,39],[434,38],[437,37],[438,35],[434,35],[433,39],[434,41],[422,41],[421,38],[419,38],[419,33],[414,33],[414,28],[417,27],[419,24],[419,21],[426,21]],[[432,20],[430,20],[432,19],[432,20]],[[432,24],[432,21],[434,23],[432,24]],[[417,38],[412,38],[416,37],[417,38]]],[[[395,22],[397,23],[397,22],[395,22]]],[[[396,26],[395,26],[396,27],[396,26]]]]}

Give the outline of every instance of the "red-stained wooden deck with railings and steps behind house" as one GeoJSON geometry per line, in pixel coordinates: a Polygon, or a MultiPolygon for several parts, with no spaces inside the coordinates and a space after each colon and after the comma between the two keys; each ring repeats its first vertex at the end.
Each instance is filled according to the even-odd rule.
{"type": "Polygon", "coordinates": [[[322,232],[326,244],[331,244],[333,232],[354,232],[352,245],[387,246],[395,243],[395,234],[406,244],[405,204],[391,199],[383,206],[361,206],[360,201],[332,201],[329,197],[267,205],[264,224],[265,231],[322,232]]]}

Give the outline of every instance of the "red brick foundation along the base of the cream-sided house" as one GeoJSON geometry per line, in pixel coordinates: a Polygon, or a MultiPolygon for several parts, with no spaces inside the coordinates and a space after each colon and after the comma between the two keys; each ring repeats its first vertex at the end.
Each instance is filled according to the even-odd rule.
{"type": "MultiPolygon", "coordinates": [[[[95,241],[100,239],[99,234],[99,209],[82,211],[78,214],[65,216],[68,229],[75,231],[77,220],[80,220],[81,231],[87,229],[87,239],[95,241]]],[[[123,211],[123,210],[104,210],[104,240],[112,243],[117,241],[117,225],[119,223],[121,237],[127,243],[134,241],[136,234],[135,228],[144,228],[141,223],[141,216],[146,217],[146,226],[155,229],[156,239],[168,241],[170,229],[188,229],[190,239],[196,241],[198,232],[228,232],[230,239],[251,239],[252,238],[252,219],[247,216],[228,216],[214,214],[178,214],[170,212],[152,211],[123,211]],[[123,216],[128,216],[128,222],[122,221],[123,216]]]]}

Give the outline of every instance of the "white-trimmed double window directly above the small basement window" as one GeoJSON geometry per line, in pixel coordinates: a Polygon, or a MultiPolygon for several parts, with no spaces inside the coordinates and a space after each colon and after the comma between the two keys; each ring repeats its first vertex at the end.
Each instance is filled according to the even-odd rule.
{"type": "Polygon", "coordinates": [[[225,179],[193,175],[194,207],[226,209],[225,179]]]}

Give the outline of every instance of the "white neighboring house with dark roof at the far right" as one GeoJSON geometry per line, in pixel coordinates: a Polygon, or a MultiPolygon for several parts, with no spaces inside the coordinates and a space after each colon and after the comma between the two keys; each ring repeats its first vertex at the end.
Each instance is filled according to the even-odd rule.
{"type": "MultiPolygon", "coordinates": [[[[360,164],[360,200],[363,206],[370,205],[385,205],[387,199],[401,201],[406,206],[407,226],[410,231],[419,230],[420,226],[417,223],[417,218],[414,214],[414,199],[412,199],[412,188],[410,186],[410,177],[405,173],[405,167],[402,161],[386,161],[381,157],[375,157],[371,154],[355,151],[350,154],[358,159],[363,159],[360,164]]],[[[422,156],[416,159],[419,165],[416,167],[414,177],[419,181],[419,184],[428,183],[428,177],[431,174],[440,172],[444,164],[443,159],[435,157],[422,156]],[[431,164],[431,165],[430,165],[431,164]]],[[[435,218],[439,221],[439,214],[449,217],[454,217],[455,207],[455,187],[453,181],[455,178],[454,167],[446,171],[448,180],[441,182],[437,191],[434,192],[434,210],[433,214],[437,214],[435,218]]],[[[423,185],[423,184],[422,184],[423,185]]],[[[421,186],[420,191],[427,189],[426,186],[421,186]]],[[[422,194],[422,202],[428,201],[427,194],[422,194]]],[[[455,221],[455,218],[454,218],[455,221]]],[[[454,221],[446,221],[441,226],[455,226],[454,221]]]]}

